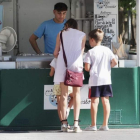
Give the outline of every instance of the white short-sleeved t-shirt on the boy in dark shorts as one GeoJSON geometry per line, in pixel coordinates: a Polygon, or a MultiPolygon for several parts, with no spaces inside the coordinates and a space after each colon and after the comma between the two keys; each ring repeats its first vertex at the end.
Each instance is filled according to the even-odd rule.
{"type": "Polygon", "coordinates": [[[111,84],[111,60],[114,58],[115,55],[105,46],[95,46],[88,51],[84,62],[91,65],[89,86],[111,84]]]}

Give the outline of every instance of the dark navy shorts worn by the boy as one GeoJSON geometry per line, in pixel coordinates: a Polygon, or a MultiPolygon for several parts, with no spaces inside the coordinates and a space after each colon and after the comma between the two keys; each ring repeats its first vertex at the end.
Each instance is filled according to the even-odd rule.
{"type": "Polygon", "coordinates": [[[91,87],[91,98],[92,97],[113,97],[112,86],[92,86],[91,87]]]}

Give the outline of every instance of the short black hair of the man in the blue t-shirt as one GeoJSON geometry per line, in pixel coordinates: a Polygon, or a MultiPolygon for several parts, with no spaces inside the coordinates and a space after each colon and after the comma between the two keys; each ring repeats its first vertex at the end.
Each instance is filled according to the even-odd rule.
{"type": "Polygon", "coordinates": [[[59,2],[59,3],[56,3],[54,5],[54,10],[57,10],[57,11],[67,11],[68,10],[68,6],[63,3],[63,2],[59,2]]]}

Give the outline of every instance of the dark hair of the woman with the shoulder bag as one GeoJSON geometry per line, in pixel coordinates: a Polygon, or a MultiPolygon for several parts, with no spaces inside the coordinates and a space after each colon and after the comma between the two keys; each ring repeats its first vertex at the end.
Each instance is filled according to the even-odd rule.
{"type": "Polygon", "coordinates": [[[65,27],[66,29],[68,28],[77,29],[78,28],[77,21],[73,18],[70,18],[69,20],[66,21],[65,27]]]}

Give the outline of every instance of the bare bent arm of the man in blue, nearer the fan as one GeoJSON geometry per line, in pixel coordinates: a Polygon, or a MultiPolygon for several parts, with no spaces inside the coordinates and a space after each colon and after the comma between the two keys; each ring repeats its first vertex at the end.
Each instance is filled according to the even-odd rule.
{"type": "Polygon", "coordinates": [[[37,39],[38,39],[38,37],[36,35],[32,34],[30,39],[29,39],[29,42],[30,42],[31,46],[33,47],[34,51],[37,54],[41,54],[42,52],[40,51],[38,44],[36,42],[37,39]]]}

